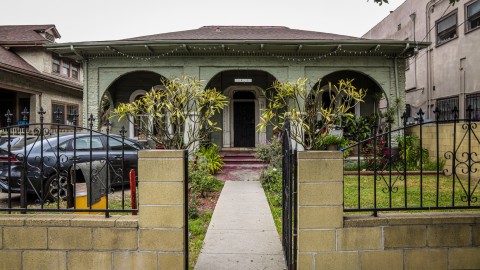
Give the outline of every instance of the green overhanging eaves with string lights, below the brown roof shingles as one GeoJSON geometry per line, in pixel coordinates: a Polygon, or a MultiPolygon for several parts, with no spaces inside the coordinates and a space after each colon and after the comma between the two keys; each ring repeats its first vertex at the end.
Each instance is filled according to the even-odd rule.
{"type": "Polygon", "coordinates": [[[394,40],[160,40],[100,41],[49,44],[47,49],[75,60],[91,57],[132,56],[316,56],[358,52],[365,55],[410,56],[428,47],[427,42],[394,40]]]}

